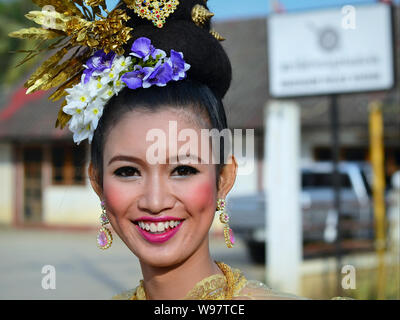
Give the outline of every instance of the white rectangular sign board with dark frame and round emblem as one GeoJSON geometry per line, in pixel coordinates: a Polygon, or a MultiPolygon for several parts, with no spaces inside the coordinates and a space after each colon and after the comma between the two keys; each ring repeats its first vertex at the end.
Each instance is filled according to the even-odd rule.
{"type": "Polygon", "coordinates": [[[272,97],[394,86],[390,6],[344,6],[268,19],[272,97]]]}

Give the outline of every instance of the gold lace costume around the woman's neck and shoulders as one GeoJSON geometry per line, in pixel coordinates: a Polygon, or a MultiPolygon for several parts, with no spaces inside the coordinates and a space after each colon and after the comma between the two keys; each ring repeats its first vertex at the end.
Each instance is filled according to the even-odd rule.
{"type": "MultiPolygon", "coordinates": [[[[239,269],[217,262],[224,275],[215,274],[199,281],[182,300],[293,300],[307,298],[275,291],[264,283],[247,280],[239,269]]],[[[146,300],[143,280],[132,290],[113,297],[115,300],[146,300]]]]}

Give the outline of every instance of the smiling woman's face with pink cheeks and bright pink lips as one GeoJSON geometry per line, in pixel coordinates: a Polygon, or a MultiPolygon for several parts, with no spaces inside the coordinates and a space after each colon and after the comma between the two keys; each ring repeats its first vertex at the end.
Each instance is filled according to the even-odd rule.
{"type": "Polygon", "coordinates": [[[214,218],[216,165],[211,158],[202,158],[203,164],[177,157],[201,158],[201,145],[209,141],[187,115],[173,109],[127,113],[104,146],[103,197],[110,222],[141,262],[152,266],[174,265],[191,256],[207,241],[214,218]],[[166,140],[147,141],[154,129],[166,140]],[[190,129],[191,137],[178,141],[184,129],[190,129]]]}

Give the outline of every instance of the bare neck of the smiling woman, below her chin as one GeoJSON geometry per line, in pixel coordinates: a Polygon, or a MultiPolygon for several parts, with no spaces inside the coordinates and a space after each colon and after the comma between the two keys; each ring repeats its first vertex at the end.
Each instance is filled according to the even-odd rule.
{"type": "Polygon", "coordinates": [[[208,237],[192,256],[177,265],[153,267],[140,264],[149,300],[182,299],[197,282],[214,274],[223,274],[211,258],[208,237]]]}

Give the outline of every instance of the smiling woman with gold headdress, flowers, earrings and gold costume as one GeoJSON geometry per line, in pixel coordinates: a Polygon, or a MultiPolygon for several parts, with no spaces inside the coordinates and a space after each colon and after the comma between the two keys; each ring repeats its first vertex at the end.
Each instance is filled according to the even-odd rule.
{"type": "MultiPolygon", "coordinates": [[[[86,3],[98,14],[104,7],[103,1],[86,3]]],[[[216,211],[227,246],[234,243],[224,201],[237,163],[226,148],[229,141],[202,134],[227,129],[222,99],[231,82],[229,58],[221,37],[210,32],[212,14],[205,2],[124,0],[107,18],[85,23],[71,4],[55,5],[60,5],[58,24],[34,36],[52,39],[64,32],[71,46],[45,62],[26,85],[29,93],[71,76],[51,98],[66,96],[57,125],[68,125],[78,144],[92,142],[89,176],[103,208],[99,246],[110,247],[105,225],[111,223],[143,273],[136,288],[115,298],[300,298],[248,281],[210,256],[208,232],[216,211]],[[65,51],[82,44],[98,51],[75,52],[56,66],[65,51]],[[75,55],[78,61],[89,58],[78,75],[75,55]]],[[[29,17],[45,24],[47,15],[55,16],[29,17]]],[[[26,30],[13,36],[24,37],[26,30]]]]}

